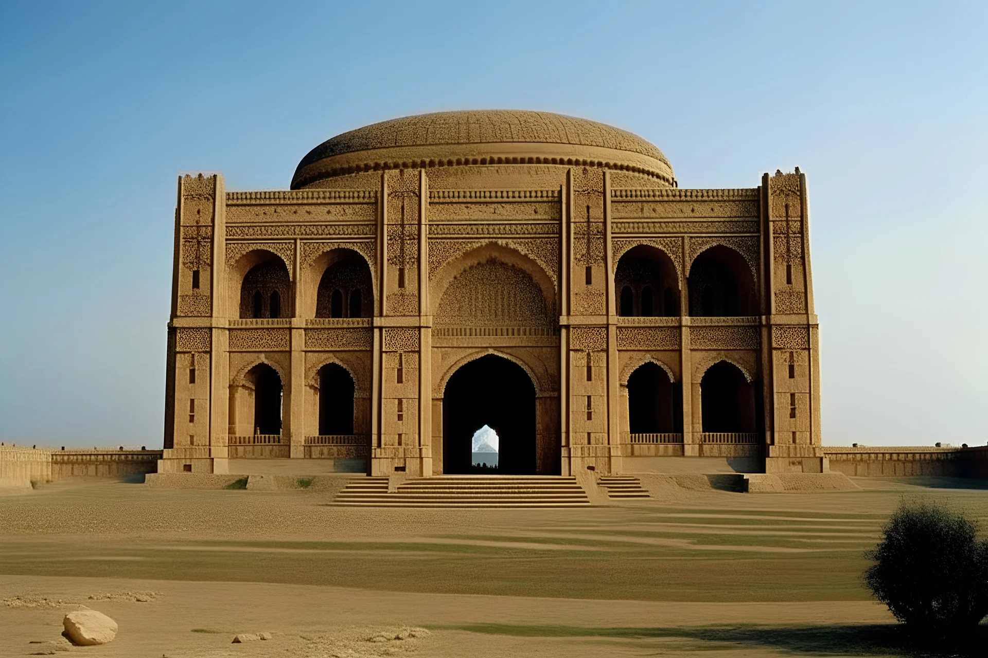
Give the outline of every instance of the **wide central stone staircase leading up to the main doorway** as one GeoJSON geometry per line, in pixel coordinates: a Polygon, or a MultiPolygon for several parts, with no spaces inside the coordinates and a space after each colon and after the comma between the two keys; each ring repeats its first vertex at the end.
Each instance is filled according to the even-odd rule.
{"type": "Polygon", "coordinates": [[[386,476],[353,480],[333,500],[347,507],[589,507],[575,477],[434,475],[387,490],[386,476]]]}

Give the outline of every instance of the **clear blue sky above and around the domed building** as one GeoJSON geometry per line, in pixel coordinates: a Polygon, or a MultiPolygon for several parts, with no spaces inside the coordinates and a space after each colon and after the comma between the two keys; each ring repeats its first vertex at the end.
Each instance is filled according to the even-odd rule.
{"type": "Polygon", "coordinates": [[[809,178],[825,443],[988,440],[983,2],[0,4],[0,437],[158,446],[177,173],[585,116],[684,187],[809,178]]]}

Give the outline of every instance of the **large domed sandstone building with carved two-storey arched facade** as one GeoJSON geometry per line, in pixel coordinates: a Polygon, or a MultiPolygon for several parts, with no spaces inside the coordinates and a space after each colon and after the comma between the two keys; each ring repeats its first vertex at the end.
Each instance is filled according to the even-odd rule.
{"type": "Polygon", "coordinates": [[[535,111],[338,135],[289,190],[179,179],[162,472],[815,473],[805,177],[679,186],[652,144],[535,111]]]}

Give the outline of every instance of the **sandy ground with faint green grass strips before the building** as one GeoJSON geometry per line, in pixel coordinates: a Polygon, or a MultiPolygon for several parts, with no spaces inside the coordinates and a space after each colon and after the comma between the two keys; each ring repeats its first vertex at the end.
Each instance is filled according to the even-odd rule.
{"type": "Polygon", "coordinates": [[[855,481],[521,510],[55,482],[0,496],[0,655],[909,655],[863,551],[903,497],[984,519],[988,488],[855,481]],[[117,639],[58,644],[80,606],[117,639]],[[272,638],[231,643],[258,632],[272,638]]]}

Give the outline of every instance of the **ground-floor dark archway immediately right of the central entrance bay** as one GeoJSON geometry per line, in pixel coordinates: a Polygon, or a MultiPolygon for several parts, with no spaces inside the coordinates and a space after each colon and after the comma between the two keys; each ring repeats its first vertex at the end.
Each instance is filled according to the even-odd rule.
{"type": "Polygon", "coordinates": [[[627,378],[628,425],[632,434],[682,433],[683,386],[655,363],[643,363],[627,378]]]}

